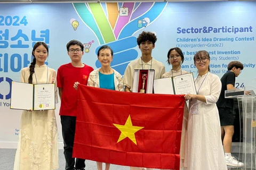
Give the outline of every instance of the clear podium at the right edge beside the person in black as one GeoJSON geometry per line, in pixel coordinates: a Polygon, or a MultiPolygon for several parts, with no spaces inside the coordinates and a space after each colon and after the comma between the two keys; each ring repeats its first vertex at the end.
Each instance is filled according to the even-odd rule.
{"type": "Polygon", "coordinates": [[[228,169],[256,169],[255,157],[255,127],[256,127],[256,96],[255,88],[231,89],[225,91],[225,98],[235,98],[238,101],[239,116],[243,126],[243,138],[239,142],[237,160],[244,163],[244,167],[228,167],[228,169]],[[249,95],[248,95],[249,94],[249,95]]]}

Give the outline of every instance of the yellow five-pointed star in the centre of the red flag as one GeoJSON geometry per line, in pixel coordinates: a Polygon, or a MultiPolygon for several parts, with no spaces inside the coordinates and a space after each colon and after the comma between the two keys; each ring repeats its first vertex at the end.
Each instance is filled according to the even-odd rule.
{"type": "Polygon", "coordinates": [[[119,129],[119,131],[121,131],[121,135],[120,135],[117,143],[122,141],[125,138],[129,138],[129,139],[131,139],[131,141],[133,141],[133,143],[135,143],[135,145],[137,145],[137,141],[135,138],[135,132],[144,128],[144,127],[140,127],[140,126],[133,126],[130,115],[126,120],[125,125],[114,124],[114,126],[116,126],[116,128],[119,129]]]}

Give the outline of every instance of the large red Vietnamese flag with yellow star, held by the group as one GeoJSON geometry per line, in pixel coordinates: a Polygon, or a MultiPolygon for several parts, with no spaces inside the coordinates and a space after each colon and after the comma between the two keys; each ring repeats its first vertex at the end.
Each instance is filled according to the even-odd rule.
{"type": "Polygon", "coordinates": [[[121,92],[79,84],[73,157],[179,169],[183,95],[121,92]]]}

